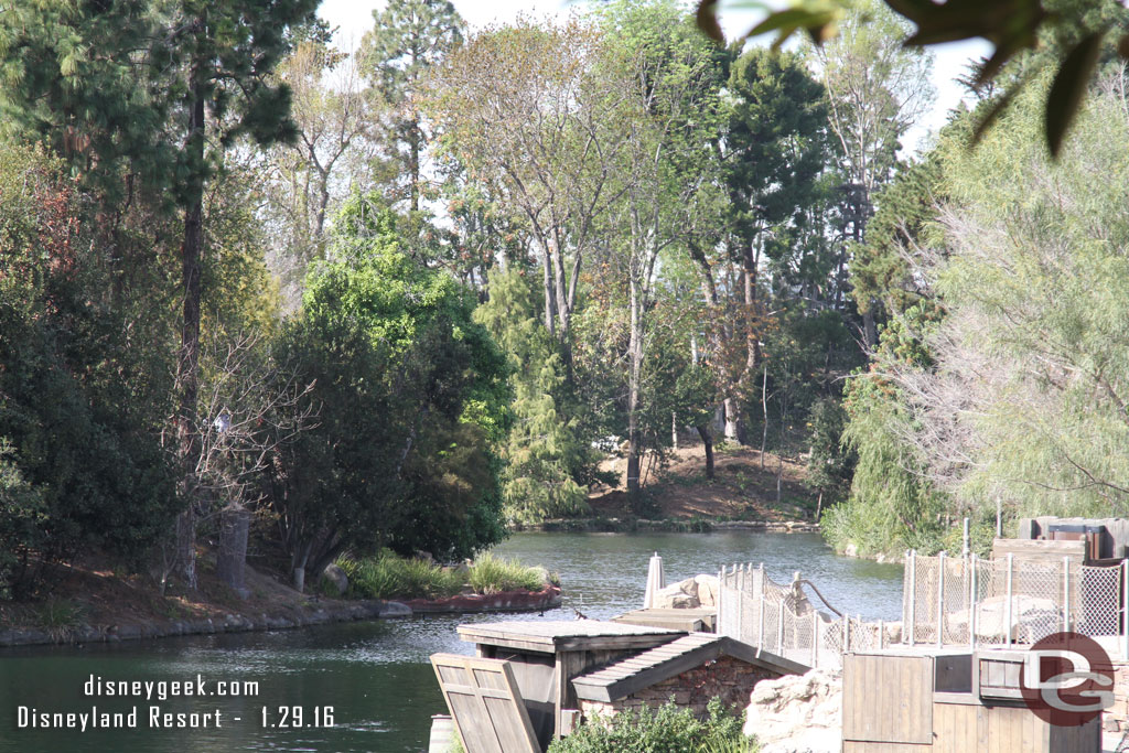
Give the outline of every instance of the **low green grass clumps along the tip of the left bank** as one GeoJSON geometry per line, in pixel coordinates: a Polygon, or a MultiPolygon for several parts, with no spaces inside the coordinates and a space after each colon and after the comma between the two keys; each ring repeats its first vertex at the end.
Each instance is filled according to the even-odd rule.
{"type": "Polygon", "coordinates": [[[470,566],[443,567],[429,560],[405,559],[392,552],[361,560],[341,558],[352,598],[445,598],[462,593],[498,594],[541,590],[555,576],[487,553],[470,566]]]}

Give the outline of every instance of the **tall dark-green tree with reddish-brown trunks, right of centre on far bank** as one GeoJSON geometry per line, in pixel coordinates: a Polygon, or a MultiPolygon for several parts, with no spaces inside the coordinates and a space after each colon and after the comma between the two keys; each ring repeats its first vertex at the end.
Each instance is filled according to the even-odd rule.
{"type": "Polygon", "coordinates": [[[830,145],[825,91],[799,55],[753,49],[733,62],[726,89],[720,149],[729,231],[720,259],[711,262],[704,249],[694,259],[714,312],[710,360],[721,377],[726,438],[736,441],[744,435],[741,403],[755,397],[771,318],[761,292],[764,257],[778,260],[778,268],[812,266],[805,256],[817,253],[819,244],[812,242],[817,225],[811,212],[821,204],[830,145]],[[738,305],[728,310],[719,298],[729,286],[711,264],[737,270],[738,305]]]}

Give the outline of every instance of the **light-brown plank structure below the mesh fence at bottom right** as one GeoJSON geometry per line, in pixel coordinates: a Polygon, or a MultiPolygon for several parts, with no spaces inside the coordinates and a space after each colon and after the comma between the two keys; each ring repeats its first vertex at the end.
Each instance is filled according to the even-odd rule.
{"type": "Polygon", "coordinates": [[[982,697],[973,692],[973,655],[966,651],[847,654],[842,750],[1097,753],[1101,718],[1080,727],[1057,727],[1019,699],[996,691],[982,697]]]}

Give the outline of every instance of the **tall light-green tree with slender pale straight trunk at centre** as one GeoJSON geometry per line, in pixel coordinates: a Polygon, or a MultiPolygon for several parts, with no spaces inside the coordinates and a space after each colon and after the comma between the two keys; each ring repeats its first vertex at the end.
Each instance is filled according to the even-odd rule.
{"type": "Polygon", "coordinates": [[[619,42],[604,63],[605,77],[618,75],[627,87],[619,103],[628,123],[616,176],[622,190],[607,229],[625,273],[627,482],[633,494],[645,449],[642,377],[656,264],[660,254],[684,248],[701,226],[718,219],[711,210],[720,178],[710,134],[721,122],[724,79],[712,45],[673,2],[615,3],[602,25],[619,42]]]}

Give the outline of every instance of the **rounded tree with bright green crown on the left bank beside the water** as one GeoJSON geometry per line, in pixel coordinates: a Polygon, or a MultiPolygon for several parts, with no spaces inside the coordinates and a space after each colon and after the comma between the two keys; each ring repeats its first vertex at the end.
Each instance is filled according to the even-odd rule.
{"type": "Polygon", "coordinates": [[[299,587],[345,549],[457,558],[504,535],[505,358],[472,321],[470,292],[406,255],[395,227],[369,201],[347,204],[340,261],[312,273],[283,327],[279,358],[315,383],[318,409],[271,480],[299,587]]]}

